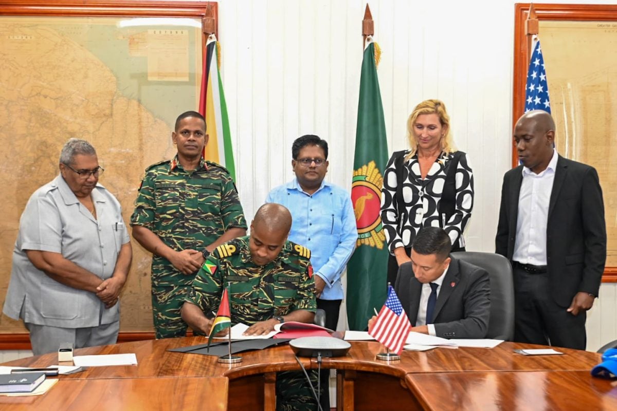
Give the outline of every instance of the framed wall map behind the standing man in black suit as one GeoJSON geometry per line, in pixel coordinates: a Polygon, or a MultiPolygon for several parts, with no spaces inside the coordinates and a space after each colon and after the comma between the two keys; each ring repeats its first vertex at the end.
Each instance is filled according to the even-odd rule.
{"type": "MultiPolygon", "coordinates": [[[[534,9],[557,151],[598,171],[608,237],[602,281],[617,282],[617,6],[534,4],[534,9]]],[[[529,4],[516,4],[513,121],[524,111],[528,10],[529,4]]]]}

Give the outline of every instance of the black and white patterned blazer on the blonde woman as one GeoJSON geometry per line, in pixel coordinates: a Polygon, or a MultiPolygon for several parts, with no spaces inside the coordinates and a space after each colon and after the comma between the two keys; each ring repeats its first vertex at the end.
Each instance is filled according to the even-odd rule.
{"type": "MultiPolygon", "coordinates": [[[[467,156],[458,153],[458,165],[455,176],[455,210],[449,217],[439,212],[439,205],[444,192],[446,174],[454,153],[442,152],[435,160],[424,180],[420,174],[420,163],[417,153],[405,161],[402,173],[397,173],[396,165],[400,163],[397,157],[401,152],[394,153],[388,161],[384,173],[384,184],[381,190],[381,221],[383,222],[386,240],[390,253],[397,247],[412,246],[421,227],[443,227],[450,236],[453,247],[464,247],[463,230],[471,216],[473,208],[473,174],[468,164],[467,156]],[[402,176],[402,182],[397,181],[402,176]],[[397,189],[402,184],[402,190],[397,189]],[[402,192],[403,201],[398,198],[402,192]],[[404,210],[399,210],[403,204],[404,210]],[[443,221],[445,220],[445,221],[443,221]]],[[[404,152],[404,157],[409,151],[404,152]]]]}

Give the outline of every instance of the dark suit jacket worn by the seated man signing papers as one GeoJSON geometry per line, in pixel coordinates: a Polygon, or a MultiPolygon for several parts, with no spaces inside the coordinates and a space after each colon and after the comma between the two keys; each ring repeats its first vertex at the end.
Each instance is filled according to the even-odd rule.
{"type": "MultiPolygon", "coordinates": [[[[399,267],[394,287],[407,317],[416,324],[422,283],[412,263],[399,267]]],[[[486,270],[452,258],[433,313],[435,333],[442,338],[484,338],[489,327],[491,287],[486,270]]]]}

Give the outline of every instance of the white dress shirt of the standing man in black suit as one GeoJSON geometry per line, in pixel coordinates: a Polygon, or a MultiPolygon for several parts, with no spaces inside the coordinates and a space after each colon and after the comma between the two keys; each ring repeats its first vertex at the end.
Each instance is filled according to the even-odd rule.
{"type": "Polygon", "coordinates": [[[557,157],[557,150],[553,149],[549,166],[539,174],[523,167],[513,261],[534,266],[546,265],[546,226],[557,157]]]}

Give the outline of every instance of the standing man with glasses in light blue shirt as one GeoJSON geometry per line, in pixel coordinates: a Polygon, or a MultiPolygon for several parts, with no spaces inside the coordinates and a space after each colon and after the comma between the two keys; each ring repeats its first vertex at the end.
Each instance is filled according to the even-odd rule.
{"type": "Polygon", "coordinates": [[[311,251],[317,307],[326,311],[326,327],[335,330],[343,298],[341,274],[358,238],[354,207],[346,190],[324,181],[326,140],[310,134],[299,137],[291,154],[296,178],[271,190],[266,202],[291,211],[289,240],[311,251]]]}

